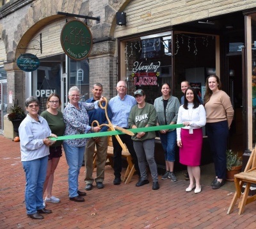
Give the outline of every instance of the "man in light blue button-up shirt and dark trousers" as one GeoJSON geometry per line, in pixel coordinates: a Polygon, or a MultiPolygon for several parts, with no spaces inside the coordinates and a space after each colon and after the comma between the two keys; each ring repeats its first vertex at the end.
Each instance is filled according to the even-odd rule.
{"type": "MultiPolygon", "coordinates": [[[[111,123],[113,125],[117,125],[118,127],[123,127],[124,129],[128,129],[128,118],[131,111],[131,108],[136,105],[136,100],[131,95],[127,95],[127,84],[125,81],[119,81],[116,84],[116,91],[118,95],[113,97],[109,101],[109,107],[111,108],[111,112],[113,114],[113,118],[111,123]]],[[[129,153],[132,156],[132,161],[134,162],[134,168],[137,171],[140,177],[140,169],[138,166],[138,159],[136,156],[136,152],[133,148],[133,143],[131,136],[128,134],[120,134],[119,135],[122,142],[127,146],[129,153]]],[[[122,171],[122,147],[118,143],[115,136],[112,136],[113,141],[113,169],[115,179],[113,184],[118,185],[121,183],[121,171],[122,171]]]]}

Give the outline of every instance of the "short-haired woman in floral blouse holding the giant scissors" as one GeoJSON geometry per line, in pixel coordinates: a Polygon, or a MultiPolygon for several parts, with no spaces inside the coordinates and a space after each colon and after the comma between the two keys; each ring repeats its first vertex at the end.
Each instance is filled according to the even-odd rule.
{"type": "MultiPolygon", "coordinates": [[[[80,91],[77,86],[72,86],[68,91],[68,105],[63,111],[65,122],[64,135],[85,134],[88,132],[99,132],[100,127],[91,127],[89,125],[89,116],[87,111],[98,109],[99,102],[104,101],[104,97],[93,103],[79,102],[80,91]]],[[[63,148],[65,150],[68,163],[68,193],[69,200],[83,202],[86,193],[78,190],[78,176],[83,164],[86,138],[64,140],[63,148]]]]}

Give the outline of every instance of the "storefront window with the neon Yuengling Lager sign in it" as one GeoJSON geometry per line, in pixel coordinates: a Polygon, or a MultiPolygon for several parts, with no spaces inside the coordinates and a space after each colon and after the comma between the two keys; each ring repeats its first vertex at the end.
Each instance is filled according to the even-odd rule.
{"type": "Polygon", "coordinates": [[[143,89],[147,102],[161,96],[163,83],[172,82],[172,33],[142,36],[125,42],[126,80],[128,93],[143,89]]]}

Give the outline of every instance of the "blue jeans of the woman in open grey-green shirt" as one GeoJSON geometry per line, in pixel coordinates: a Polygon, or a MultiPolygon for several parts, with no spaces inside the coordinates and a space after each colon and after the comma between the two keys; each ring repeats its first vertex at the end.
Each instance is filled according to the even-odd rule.
{"type": "Polygon", "coordinates": [[[176,130],[167,132],[166,134],[161,134],[159,132],[159,137],[164,149],[165,161],[175,161],[175,148],[177,144],[176,130]]]}

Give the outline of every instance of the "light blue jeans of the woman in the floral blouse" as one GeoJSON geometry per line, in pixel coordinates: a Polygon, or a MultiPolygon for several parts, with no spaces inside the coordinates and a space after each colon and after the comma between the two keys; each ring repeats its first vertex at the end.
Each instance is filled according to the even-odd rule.
{"type": "Polygon", "coordinates": [[[63,143],[68,163],[68,193],[69,197],[78,196],[78,176],[83,164],[85,146],[70,146],[63,143]]]}

